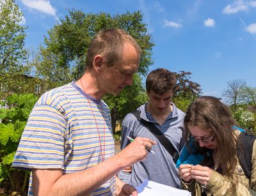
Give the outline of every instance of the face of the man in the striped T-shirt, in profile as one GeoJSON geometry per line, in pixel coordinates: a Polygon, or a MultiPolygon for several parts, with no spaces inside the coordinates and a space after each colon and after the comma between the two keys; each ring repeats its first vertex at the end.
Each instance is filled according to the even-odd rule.
{"type": "Polygon", "coordinates": [[[127,43],[124,47],[122,61],[113,66],[104,67],[102,74],[102,87],[106,93],[118,94],[126,86],[132,85],[133,75],[139,68],[139,54],[131,44],[127,43]]]}

